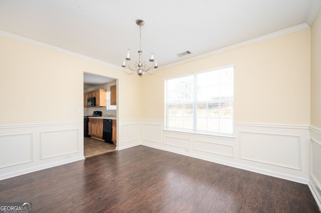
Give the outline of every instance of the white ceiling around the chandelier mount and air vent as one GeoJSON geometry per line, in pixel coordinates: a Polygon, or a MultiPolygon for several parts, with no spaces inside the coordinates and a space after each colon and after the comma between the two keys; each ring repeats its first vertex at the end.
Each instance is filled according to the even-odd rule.
{"type": "Polygon", "coordinates": [[[307,23],[321,0],[0,0],[0,30],[120,66],[160,67],[307,23]],[[189,50],[191,54],[177,54],[189,50]]]}

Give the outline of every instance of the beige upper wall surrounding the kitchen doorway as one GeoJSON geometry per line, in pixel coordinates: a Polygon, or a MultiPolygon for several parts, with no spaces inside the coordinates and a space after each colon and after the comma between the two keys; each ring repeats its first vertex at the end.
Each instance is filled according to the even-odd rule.
{"type": "Polygon", "coordinates": [[[118,79],[119,118],[141,117],[138,76],[6,37],[0,46],[0,125],[82,121],[83,72],[118,79]]]}

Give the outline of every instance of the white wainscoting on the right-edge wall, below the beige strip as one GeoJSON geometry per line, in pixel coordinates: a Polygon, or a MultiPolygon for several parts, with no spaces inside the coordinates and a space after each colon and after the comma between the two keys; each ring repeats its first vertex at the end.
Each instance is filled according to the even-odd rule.
{"type": "Polygon", "coordinates": [[[309,188],[321,209],[321,129],[310,126],[310,180],[309,188]]]}

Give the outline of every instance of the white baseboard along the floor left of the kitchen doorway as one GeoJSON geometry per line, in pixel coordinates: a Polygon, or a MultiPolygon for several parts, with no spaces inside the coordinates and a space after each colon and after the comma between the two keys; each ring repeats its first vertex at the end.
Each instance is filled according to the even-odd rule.
{"type": "Polygon", "coordinates": [[[85,159],[85,156],[77,156],[77,157],[73,157],[73,158],[70,158],[70,159],[62,160],[62,161],[57,161],[57,162],[53,162],[53,163],[48,163],[48,164],[44,164],[44,165],[30,167],[30,168],[19,170],[19,171],[14,171],[14,172],[11,172],[11,173],[6,173],[4,175],[0,175],[0,180],[11,178],[11,177],[15,177],[15,176],[19,176],[19,175],[23,175],[23,174],[27,174],[27,173],[30,173],[30,172],[43,170],[43,169],[46,169],[46,168],[55,167],[55,166],[58,166],[58,165],[67,164],[67,163],[70,163],[70,162],[76,162],[76,161],[83,160],[83,159],[85,159]]]}

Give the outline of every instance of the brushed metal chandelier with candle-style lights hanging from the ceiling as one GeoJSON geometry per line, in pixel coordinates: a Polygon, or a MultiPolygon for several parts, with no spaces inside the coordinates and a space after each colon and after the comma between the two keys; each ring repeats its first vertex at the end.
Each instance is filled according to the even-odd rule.
{"type": "Polygon", "coordinates": [[[124,58],[124,61],[122,63],[122,67],[125,71],[126,74],[132,74],[134,73],[135,71],[137,72],[137,74],[141,77],[144,72],[146,72],[147,74],[155,74],[158,66],[157,66],[157,61],[154,60],[154,52],[151,52],[151,56],[150,56],[150,59],[149,59],[149,62],[150,64],[146,64],[145,61],[144,62],[141,62],[141,26],[144,25],[145,21],[142,20],[142,19],[137,19],[136,20],[136,24],[139,25],[139,50],[138,50],[138,54],[139,54],[139,61],[135,61],[135,63],[133,63],[132,65],[129,65],[129,60],[131,60],[131,58],[129,57],[129,49],[127,51],[127,57],[124,58]],[[127,60],[127,65],[128,65],[128,68],[130,70],[125,70],[125,61],[127,60]],[[154,64],[154,69],[151,69],[153,70],[153,72],[148,72],[150,67],[152,67],[152,63],[155,61],[155,64],[154,64]],[[132,66],[132,68],[131,68],[132,66]],[[129,71],[129,72],[128,72],[129,71]]]}

